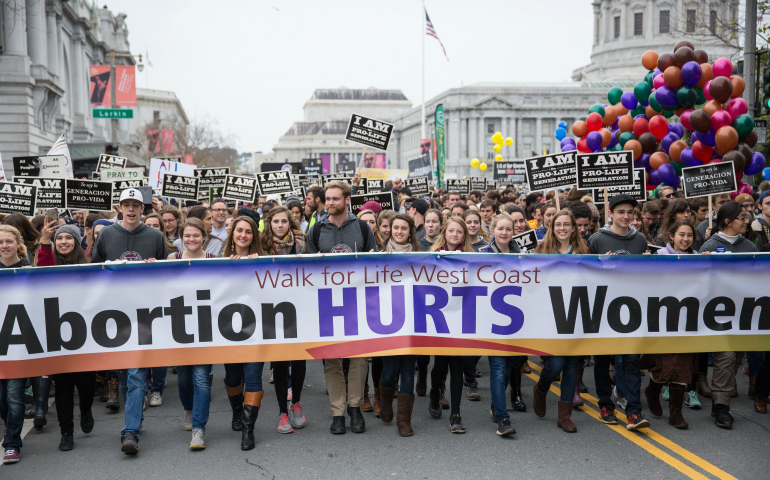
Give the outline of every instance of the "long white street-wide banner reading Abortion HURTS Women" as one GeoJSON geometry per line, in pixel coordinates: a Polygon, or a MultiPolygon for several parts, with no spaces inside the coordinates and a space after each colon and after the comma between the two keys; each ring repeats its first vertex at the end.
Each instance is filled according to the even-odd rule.
{"type": "Polygon", "coordinates": [[[0,269],[0,378],[396,354],[762,351],[768,268],[767,254],[434,252],[0,269]],[[682,289],[693,278],[709,288],[682,289]]]}

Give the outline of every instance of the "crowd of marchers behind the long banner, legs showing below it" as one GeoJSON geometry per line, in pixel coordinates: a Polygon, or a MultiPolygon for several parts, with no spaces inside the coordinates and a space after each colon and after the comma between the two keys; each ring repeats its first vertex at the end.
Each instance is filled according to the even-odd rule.
{"type": "MultiPolygon", "coordinates": [[[[58,219],[41,215],[31,220],[18,213],[0,215],[0,267],[347,252],[521,253],[513,237],[529,230],[541,241],[528,253],[546,255],[770,251],[768,182],[760,184],[754,195],[741,194],[735,199],[728,194],[715,196],[713,211],[708,211],[704,199],[686,200],[682,192],[662,187],[657,198],[642,205],[629,196],[615,195],[605,212],[603,203],[594,203],[590,192],[576,188],[546,195],[520,193],[513,186],[469,195],[435,189],[431,195],[414,196],[396,179],[385,184],[385,190],[393,191],[398,200],[396,210],[383,210],[379,203],[368,202],[354,214],[349,201],[359,180],[354,177],[352,186],[341,181],[324,187],[314,185],[304,199],[290,196],[284,205],[275,198],[259,197],[254,205],[237,210],[223,199],[174,206],[166,199],[153,198],[152,207],[145,211],[141,192],[129,189],[121,193],[119,205],[110,213],[75,212],[73,218],[58,219]],[[559,195],[559,208],[555,195],[559,195]]],[[[606,424],[618,424],[615,413],[620,408],[629,430],[650,426],[642,412],[643,393],[656,417],[663,416],[661,400],[667,400],[668,422],[679,429],[688,427],[683,408],[699,410],[700,397],[711,397],[716,425],[732,428],[730,399],[738,395],[735,377],[744,364],[744,355],[748,395],[756,412],[766,414],[770,352],[543,357],[544,367],[531,396],[522,392],[522,375],[531,373],[527,357],[489,356],[490,413],[497,435],[513,435],[516,430],[506,390],[510,388],[511,410],[527,411],[525,398],[531,398],[535,414],[544,417],[546,394],[553,382],[560,382],[557,425],[565,432],[576,432],[571,414],[583,405],[580,393],[588,391],[583,372],[593,365],[600,417],[606,424]],[[650,378],[642,390],[645,370],[650,378]]],[[[464,433],[460,415],[463,393],[469,401],[481,400],[479,361],[480,357],[474,356],[434,356],[429,378],[429,356],[326,359],[324,376],[333,415],[330,431],[344,434],[349,428],[363,433],[363,413],[373,412],[385,423],[395,419],[398,434],[411,436],[415,395],[428,395],[428,415],[438,419],[443,410],[449,410],[450,431],[464,433]]],[[[264,367],[263,362],[224,366],[231,427],[241,432],[243,450],[255,447],[264,367]]],[[[170,368],[177,375],[183,429],[192,432],[190,448],[203,449],[212,365],[170,368]]],[[[3,462],[19,461],[25,418],[32,419],[38,429],[47,424],[49,395],[55,397],[61,430],[59,450],[73,449],[75,389],[82,432],[89,433],[94,427],[94,398],[112,411],[119,411],[122,405],[125,427],[120,432],[121,450],[136,454],[143,412],[147,406],[163,403],[168,369],[160,366],[0,380],[0,413],[5,422],[3,462]],[[25,395],[32,398],[29,409],[25,409],[25,395]]],[[[301,399],[306,361],[272,362],[269,369],[280,408],[277,431],[295,432],[306,422],[301,399]]]]}

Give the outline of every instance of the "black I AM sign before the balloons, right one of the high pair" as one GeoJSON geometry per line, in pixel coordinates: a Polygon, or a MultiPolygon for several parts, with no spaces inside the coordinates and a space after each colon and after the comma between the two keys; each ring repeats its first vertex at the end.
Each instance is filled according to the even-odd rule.
{"type": "Polygon", "coordinates": [[[632,187],[633,185],[633,152],[622,150],[577,154],[577,187],[579,189],[632,187]]]}

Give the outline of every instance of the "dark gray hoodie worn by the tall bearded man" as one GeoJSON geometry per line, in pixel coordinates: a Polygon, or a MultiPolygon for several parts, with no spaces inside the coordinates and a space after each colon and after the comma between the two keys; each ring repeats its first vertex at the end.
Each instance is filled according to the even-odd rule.
{"type": "Polygon", "coordinates": [[[374,233],[368,225],[364,226],[368,230],[367,236],[361,230],[361,221],[348,212],[348,218],[342,223],[341,227],[333,224],[329,217],[323,217],[310,228],[307,232],[307,253],[354,253],[368,252],[377,250],[377,243],[374,240],[374,233]],[[316,235],[313,230],[320,228],[318,235],[318,244],[315,243],[316,235]],[[366,238],[366,240],[364,240],[366,238]]]}

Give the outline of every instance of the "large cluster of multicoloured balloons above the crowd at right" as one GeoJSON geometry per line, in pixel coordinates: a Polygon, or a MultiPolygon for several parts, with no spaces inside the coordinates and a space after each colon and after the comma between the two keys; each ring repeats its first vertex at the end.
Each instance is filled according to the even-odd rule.
{"type": "Polygon", "coordinates": [[[632,151],[635,167],[647,170],[649,190],[678,187],[682,167],[733,162],[739,182],[733,196],[751,193],[742,177],[762,172],[765,157],[752,151],[754,119],[740,98],[746,85],[732,75],[730,60],[710,64],[705,51],[683,40],[673,54],[645,52],[642,65],[648,72],[633,92],[612,88],[609,105],[594,105],[585,121],[575,122],[577,143],[559,124],[555,136],[562,151],[632,151]],[[681,123],[669,122],[674,116],[681,123]]]}

